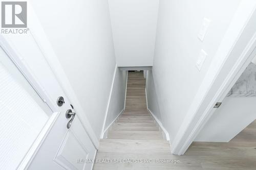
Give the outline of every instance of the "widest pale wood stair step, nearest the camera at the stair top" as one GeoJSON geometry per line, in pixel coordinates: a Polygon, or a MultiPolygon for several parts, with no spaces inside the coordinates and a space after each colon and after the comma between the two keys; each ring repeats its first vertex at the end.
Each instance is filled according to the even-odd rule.
{"type": "Polygon", "coordinates": [[[99,152],[170,154],[166,140],[100,139],[99,152]]]}

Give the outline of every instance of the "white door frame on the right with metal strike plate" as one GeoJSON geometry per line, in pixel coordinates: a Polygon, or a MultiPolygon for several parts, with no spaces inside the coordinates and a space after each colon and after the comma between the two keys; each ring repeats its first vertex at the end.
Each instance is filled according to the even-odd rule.
{"type": "Polygon", "coordinates": [[[256,3],[253,0],[240,3],[177,136],[172,142],[173,154],[183,155],[186,152],[214,113],[214,105],[224,99],[229,89],[256,55],[256,27],[253,27],[254,30],[249,29],[253,20],[256,20],[255,9],[256,3]],[[253,36],[248,37],[248,35],[253,36]],[[246,41],[243,42],[243,40],[246,41]],[[238,49],[239,44],[245,48],[238,49]],[[236,56],[238,60],[232,61],[235,50],[239,55],[236,56]]]}

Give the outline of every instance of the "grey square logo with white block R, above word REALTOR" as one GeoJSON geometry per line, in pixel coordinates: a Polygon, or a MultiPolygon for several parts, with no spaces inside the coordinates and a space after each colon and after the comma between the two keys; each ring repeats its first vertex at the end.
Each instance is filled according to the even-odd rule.
{"type": "Polygon", "coordinates": [[[27,28],[27,2],[2,2],[2,28],[27,28]]]}

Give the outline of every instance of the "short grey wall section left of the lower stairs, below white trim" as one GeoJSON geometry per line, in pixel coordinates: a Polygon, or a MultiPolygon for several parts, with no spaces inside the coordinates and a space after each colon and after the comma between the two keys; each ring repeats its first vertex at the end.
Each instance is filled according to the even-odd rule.
{"type": "Polygon", "coordinates": [[[127,71],[121,71],[117,68],[104,130],[108,129],[113,120],[115,120],[124,109],[126,79],[127,71]]]}

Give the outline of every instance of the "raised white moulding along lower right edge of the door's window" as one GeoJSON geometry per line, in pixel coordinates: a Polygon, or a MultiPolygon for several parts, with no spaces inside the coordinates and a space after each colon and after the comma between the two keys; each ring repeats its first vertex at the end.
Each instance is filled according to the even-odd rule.
{"type": "Polygon", "coordinates": [[[36,140],[34,141],[32,147],[29,149],[26,156],[23,158],[23,160],[18,165],[17,169],[27,169],[34,159],[35,155],[41,148],[42,143],[44,143],[48,133],[52,129],[54,123],[56,122],[58,116],[60,115],[60,112],[55,112],[52,114],[52,116],[49,118],[48,122],[46,123],[45,127],[42,128],[40,134],[37,136],[36,140]]]}

